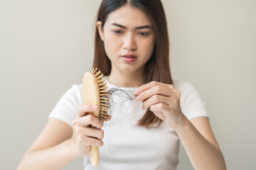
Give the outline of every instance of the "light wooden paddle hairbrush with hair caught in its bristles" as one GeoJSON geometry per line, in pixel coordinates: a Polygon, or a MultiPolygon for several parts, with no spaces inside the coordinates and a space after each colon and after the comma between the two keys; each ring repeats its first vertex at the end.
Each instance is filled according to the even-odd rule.
{"type": "MultiPolygon", "coordinates": [[[[102,77],[103,74],[101,74],[100,70],[97,72],[97,68],[85,73],[82,78],[82,98],[85,105],[94,104],[100,108],[97,111],[90,112],[90,114],[106,120],[109,94],[106,90],[107,86],[105,86],[107,82],[104,83],[106,79],[102,79],[102,77]]],[[[92,125],[91,127],[95,128],[92,125]]],[[[96,146],[90,147],[90,162],[93,166],[97,166],[100,162],[99,148],[96,146]]]]}

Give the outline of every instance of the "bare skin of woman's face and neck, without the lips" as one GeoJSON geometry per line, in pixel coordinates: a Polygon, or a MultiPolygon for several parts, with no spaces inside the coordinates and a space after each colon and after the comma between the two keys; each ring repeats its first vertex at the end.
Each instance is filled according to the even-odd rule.
{"type": "Polygon", "coordinates": [[[103,30],[102,22],[97,22],[105,52],[112,63],[112,71],[107,77],[110,82],[118,86],[144,84],[144,64],[154,50],[154,30],[151,27],[149,18],[142,11],[128,5],[110,13],[103,30]],[[138,28],[143,26],[149,28],[138,28]],[[125,54],[136,55],[137,60],[126,63],[121,58],[125,54]]]}

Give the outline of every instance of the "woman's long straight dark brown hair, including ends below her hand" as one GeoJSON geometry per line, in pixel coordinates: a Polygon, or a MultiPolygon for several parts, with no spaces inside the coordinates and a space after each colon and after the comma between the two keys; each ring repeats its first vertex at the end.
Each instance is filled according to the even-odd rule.
{"type": "MultiPolygon", "coordinates": [[[[145,64],[144,80],[146,83],[159,81],[164,84],[173,84],[169,67],[169,35],[161,0],[102,0],[99,11],[97,12],[97,21],[102,22],[103,29],[107,16],[112,11],[128,3],[130,6],[139,8],[146,13],[146,16],[149,17],[152,23],[155,34],[154,52],[145,64]]],[[[92,67],[99,68],[105,76],[111,72],[111,62],[106,55],[104,42],[100,39],[97,28],[95,30],[95,55],[92,67]]],[[[137,125],[150,128],[151,125],[155,123],[160,125],[161,122],[162,120],[148,109],[143,118],[138,121],[137,125]]]]}

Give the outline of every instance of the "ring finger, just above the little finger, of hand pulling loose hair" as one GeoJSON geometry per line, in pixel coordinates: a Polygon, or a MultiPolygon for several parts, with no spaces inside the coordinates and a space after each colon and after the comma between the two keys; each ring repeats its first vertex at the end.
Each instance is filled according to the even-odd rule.
{"type": "Polygon", "coordinates": [[[155,94],[155,95],[147,98],[143,102],[143,109],[149,108],[150,106],[152,106],[156,103],[165,103],[166,105],[171,105],[171,98],[155,94]]]}

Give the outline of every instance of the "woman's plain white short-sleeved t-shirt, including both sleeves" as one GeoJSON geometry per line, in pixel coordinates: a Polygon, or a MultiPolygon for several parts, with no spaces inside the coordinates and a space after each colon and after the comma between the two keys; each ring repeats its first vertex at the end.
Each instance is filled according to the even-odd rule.
{"type": "MultiPolygon", "coordinates": [[[[176,169],[179,148],[176,131],[164,122],[159,128],[153,129],[137,126],[137,120],[146,112],[142,110],[142,102],[134,101],[133,92],[137,87],[118,87],[106,82],[108,90],[118,88],[126,93],[114,91],[110,96],[108,113],[112,119],[102,127],[104,145],[100,147],[100,164],[92,166],[87,154],[84,156],[85,169],[176,169]]],[[[191,83],[174,80],[174,88],[181,92],[181,111],[189,120],[199,116],[208,117],[205,103],[191,83]]],[[[82,84],[74,84],[60,98],[49,118],[58,118],[71,126],[80,105],[82,84]]]]}

